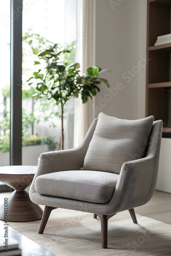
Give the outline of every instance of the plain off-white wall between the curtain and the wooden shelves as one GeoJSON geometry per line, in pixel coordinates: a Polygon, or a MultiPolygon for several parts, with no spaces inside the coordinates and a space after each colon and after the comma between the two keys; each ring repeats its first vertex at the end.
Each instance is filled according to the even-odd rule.
{"type": "Polygon", "coordinates": [[[111,70],[101,76],[113,93],[100,86],[95,116],[145,117],[146,8],[146,0],[96,0],[96,65],[111,70]]]}

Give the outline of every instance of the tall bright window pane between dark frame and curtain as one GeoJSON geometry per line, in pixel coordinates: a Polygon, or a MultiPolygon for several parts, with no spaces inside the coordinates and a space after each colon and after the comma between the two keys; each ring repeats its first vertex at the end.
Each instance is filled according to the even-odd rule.
{"type": "MultiPolygon", "coordinates": [[[[41,152],[60,148],[61,124],[60,107],[54,104],[54,100],[30,97],[34,95],[34,85],[30,88],[27,80],[38,71],[35,61],[40,61],[33,49],[41,51],[53,44],[72,45],[68,59],[71,63],[75,61],[76,1],[37,0],[29,8],[25,8],[25,2],[27,0],[23,1],[23,133],[26,139],[41,141],[41,145],[32,146],[31,158],[36,161],[41,152]],[[30,123],[24,126],[27,120],[30,123]],[[34,148],[37,154],[33,153],[34,148]]],[[[43,64],[40,68],[44,69],[43,64]]],[[[74,102],[70,100],[69,104],[65,109],[65,148],[73,146],[73,136],[67,131],[73,134],[74,102]]],[[[29,164],[29,161],[28,147],[23,147],[23,164],[29,164]]]]}

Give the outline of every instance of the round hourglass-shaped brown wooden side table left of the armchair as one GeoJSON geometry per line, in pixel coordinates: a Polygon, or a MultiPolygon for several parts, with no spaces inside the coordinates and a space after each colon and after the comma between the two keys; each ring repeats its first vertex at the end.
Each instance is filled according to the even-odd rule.
{"type": "Polygon", "coordinates": [[[8,203],[0,208],[0,219],[4,220],[4,207],[8,207],[8,221],[24,222],[41,219],[42,209],[31,202],[25,191],[35,175],[37,166],[10,165],[0,167],[0,181],[15,190],[8,198],[8,203]]]}

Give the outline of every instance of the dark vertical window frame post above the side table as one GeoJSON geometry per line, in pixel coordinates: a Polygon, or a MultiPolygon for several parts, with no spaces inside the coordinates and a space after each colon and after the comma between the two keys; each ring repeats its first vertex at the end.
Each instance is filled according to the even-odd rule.
{"type": "Polygon", "coordinates": [[[22,165],[22,12],[11,0],[10,165],[22,165]]]}

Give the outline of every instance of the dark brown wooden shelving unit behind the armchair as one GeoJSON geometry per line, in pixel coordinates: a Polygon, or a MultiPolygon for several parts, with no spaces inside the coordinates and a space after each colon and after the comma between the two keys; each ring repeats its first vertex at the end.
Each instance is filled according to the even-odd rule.
{"type": "MultiPolygon", "coordinates": [[[[158,36],[171,33],[171,0],[148,0],[147,4],[146,116],[154,115],[167,126],[171,123],[171,43],[155,46],[155,42],[158,36]]],[[[166,131],[164,137],[170,137],[171,129],[166,131]]]]}

